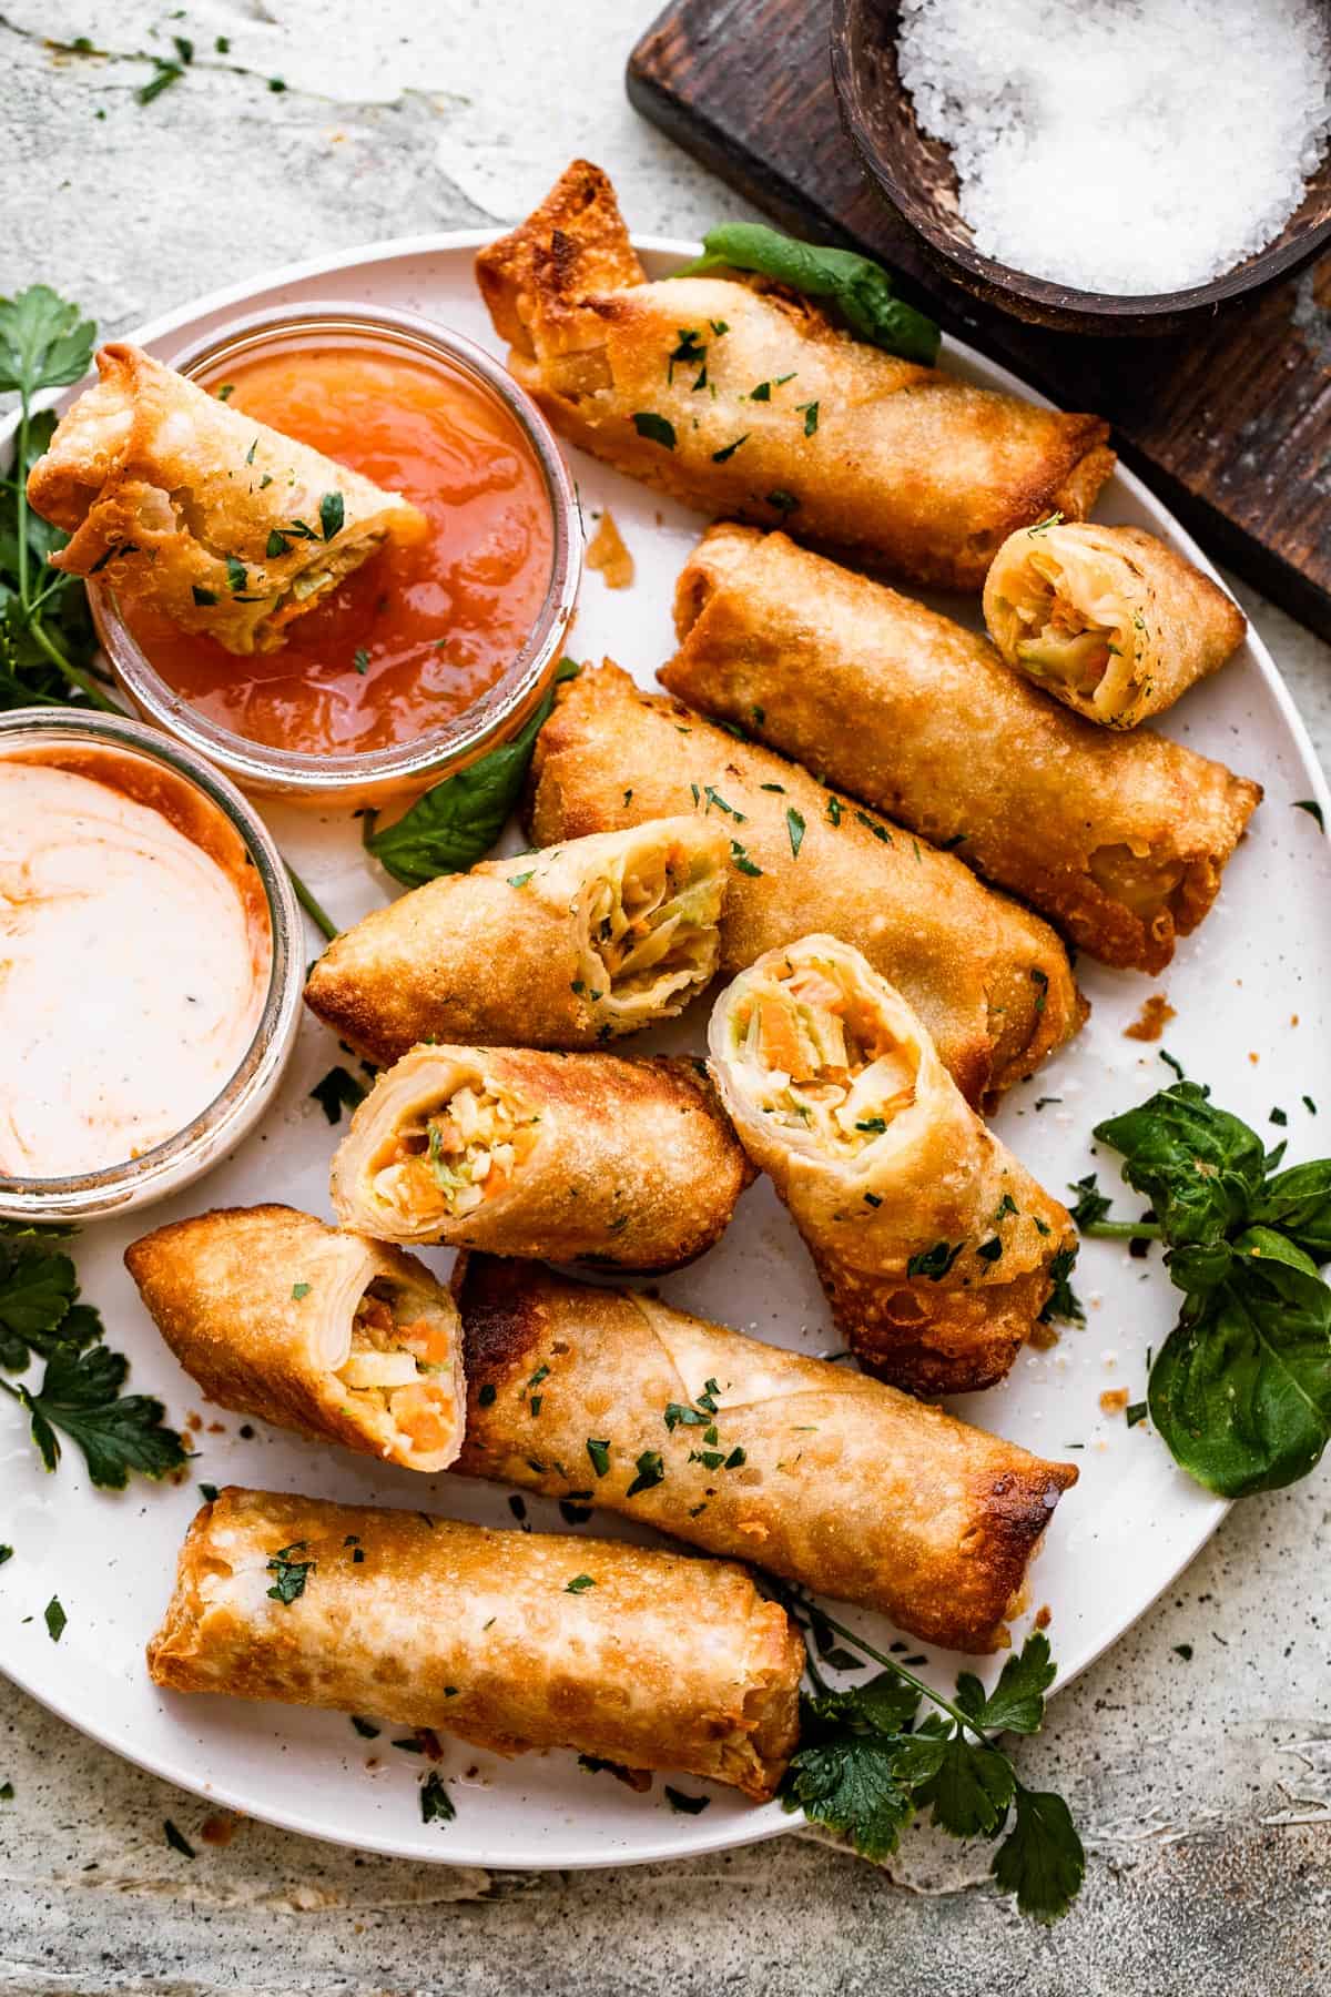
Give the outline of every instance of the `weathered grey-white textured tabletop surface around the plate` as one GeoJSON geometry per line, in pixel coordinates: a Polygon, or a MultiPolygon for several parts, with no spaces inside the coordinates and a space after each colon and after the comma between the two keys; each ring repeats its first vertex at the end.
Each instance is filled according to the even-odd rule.
{"type": "MultiPolygon", "coordinates": [[[[575,150],[615,172],[637,226],[694,232],[734,202],[621,92],[653,12],[653,0],[198,0],[178,14],[12,0],[0,12],[0,290],[46,278],[112,332],[287,258],[509,220],[575,150]],[[138,106],[174,34],[194,40],[196,62],[138,106]],[[44,40],[78,36],[106,54],[44,40]],[[216,36],[229,54],[214,52],[216,36]]],[[[1331,759],[1331,651],[1245,601],[1331,759]]],[[[984,1889],[984,1855],[926,1835],[894,1877],[800,1837],[535,1879],[359,1859],[210,1823],[194,1797],[8,1689],[0,1991],[1331,1989],[1329,1528],[1325,1474],[1239,1506],[1058,1699],[1048,1737],[1022,1747],[1028,1779],[1068,1793],[1092,1855],[1086,1893],[1052,1935],[984,1889]],[[1175,1646],[1191,1646],[1191,1662],[1175,1646]],[[168,1815],[194,1861],[166,1845],[168,1815]],[[206,1827],[233,1835],[210,1843],[206,1827]]]]}

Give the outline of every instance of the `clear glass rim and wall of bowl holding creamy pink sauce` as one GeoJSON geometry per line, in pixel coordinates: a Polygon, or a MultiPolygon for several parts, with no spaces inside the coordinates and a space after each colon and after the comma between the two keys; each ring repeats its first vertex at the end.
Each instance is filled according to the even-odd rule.
{"type": "MultiPolygon", "coordinates": [[[[263,1010],[239,1066],[214,1100],[164,1144],[74,1178],[0,1174],[0,1218],[32,1224],[92,1220],[148,1206],[188,1186],[231,1150],[267,1108],[301,1018],[303,927],[291,879],[257,813],[192,749],[120,715],[20,707],[0,715],[0,757],[98,775],[98,763],[140,765],[142,803],[176,799],[190,837],[247,861],[263,891],[271,963],[263,1010]]],[[[136,793],[128,793],[136,795],[136,793]]]]}

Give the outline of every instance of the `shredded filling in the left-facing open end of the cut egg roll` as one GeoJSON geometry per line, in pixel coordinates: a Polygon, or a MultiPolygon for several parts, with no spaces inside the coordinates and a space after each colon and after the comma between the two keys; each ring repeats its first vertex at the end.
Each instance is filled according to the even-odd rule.
{"type": "Polygon", "coordinates": [[[375,1198],[403,1220],[453,1220],[505,1192],[535,1140],[539,1110],[489,1076],[459,1080],[415,1110],[371,1170],[375,1198]]]}

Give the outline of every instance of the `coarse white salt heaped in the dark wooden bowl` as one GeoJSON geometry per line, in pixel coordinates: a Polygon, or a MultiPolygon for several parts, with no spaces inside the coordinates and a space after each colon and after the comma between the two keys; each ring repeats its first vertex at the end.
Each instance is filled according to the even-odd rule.
{"type": "Polygon", "coordinates": [[[1263,250],[1331,132],[1321,0],[904,0],[898,62],[976,248],[1086,292],[1263,250]]]}

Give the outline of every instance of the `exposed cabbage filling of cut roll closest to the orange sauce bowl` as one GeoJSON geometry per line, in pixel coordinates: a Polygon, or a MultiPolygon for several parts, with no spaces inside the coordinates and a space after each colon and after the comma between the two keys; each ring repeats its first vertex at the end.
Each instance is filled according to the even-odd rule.
{"type": "Polygon", "coordinates": [[[587,905],[589,997],[649,1010],[702,985],[718,911],[720,877],[706,859],[678,845],[621,855],[587,905]]]}

